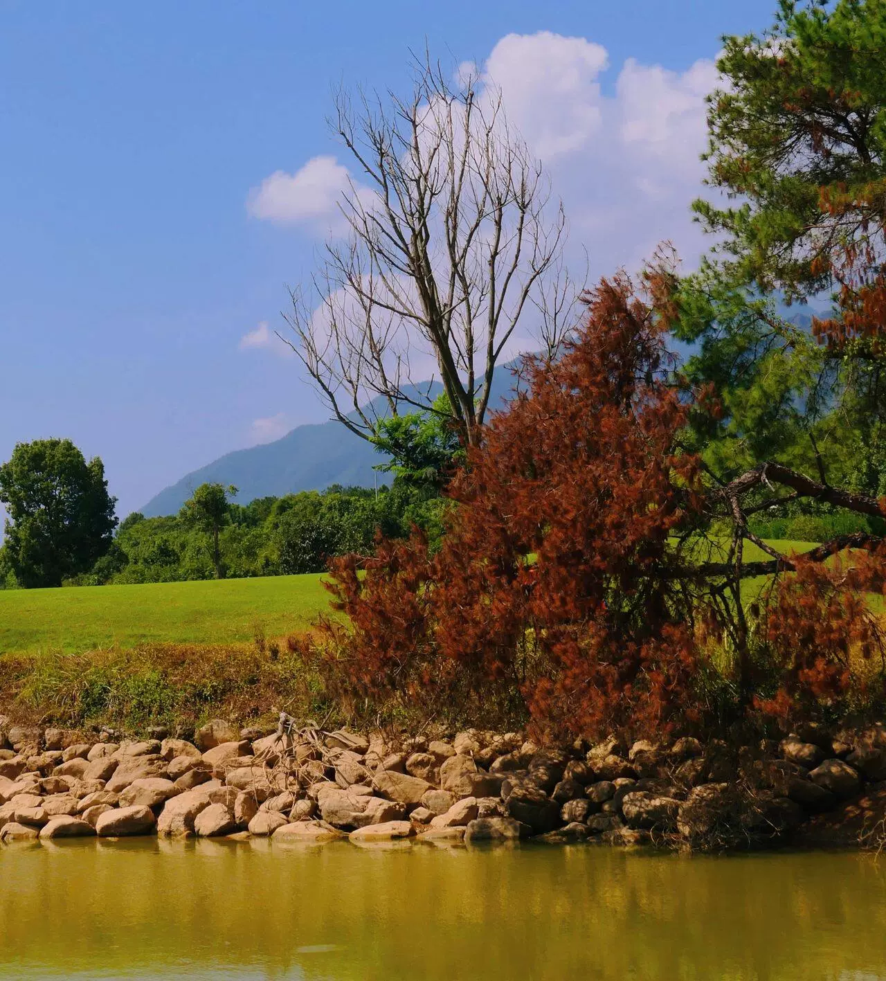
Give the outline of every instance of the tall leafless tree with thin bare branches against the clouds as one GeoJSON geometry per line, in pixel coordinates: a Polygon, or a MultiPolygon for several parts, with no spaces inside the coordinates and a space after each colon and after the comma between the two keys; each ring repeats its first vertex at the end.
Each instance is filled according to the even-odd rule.
{"type": "Polygon", "coordinates": [[[581,287],[562,265],[562,205],[500,93],[428,59],[409,100],[339,93],[331,126],[359,173],[340,202],[348,234],[292,291],[284,339],[354,433],[435,411],[431,375],[475,442],[499,360],[518,340],[552,353],[570,326],[581,287]]]}

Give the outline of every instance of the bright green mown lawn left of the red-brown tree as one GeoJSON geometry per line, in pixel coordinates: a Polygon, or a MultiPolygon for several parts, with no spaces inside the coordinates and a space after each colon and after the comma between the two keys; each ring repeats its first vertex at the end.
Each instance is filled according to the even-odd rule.
{"type": "Polygon", "coordinates": [[[130,647],[145,641],[230,644],[306,626],[328,606],[321,576],[0,590],[0,653],[130,647]]]}

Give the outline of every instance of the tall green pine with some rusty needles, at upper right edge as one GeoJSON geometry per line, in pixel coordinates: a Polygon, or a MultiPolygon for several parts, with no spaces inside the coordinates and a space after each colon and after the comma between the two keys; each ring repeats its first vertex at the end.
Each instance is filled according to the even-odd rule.
{"type": "Polygon", "coordinates": [[[780,0],[725,37],[709,98],[717,244],[681,285],[675,333],[724,414],[701,434],[733,473],[767,458],[886,493],[886,3],[780,0]],[[827,305],[809,316],[788,303],[827,305]]]}

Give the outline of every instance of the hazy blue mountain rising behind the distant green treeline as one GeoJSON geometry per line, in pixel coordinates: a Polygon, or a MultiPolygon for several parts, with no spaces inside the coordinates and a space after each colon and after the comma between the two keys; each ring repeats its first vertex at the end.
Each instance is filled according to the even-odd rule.
{"type": "MultiPolygon", "coordinates": [[[[491,405],[500,405],[513,390],[512,365],[495,369],[491,405]]],[[[428,384],[420,386],[427,391],[428,384]]],[[[431,385],[436,397],[442,387],[431,385]]],[[[373,467],[383,457],[365,439],[354,436],[339,422],[296,426],[282,439],[249,449],[237,449],[185,474],[178,483],[161,490],[144,507],[146,518],[177,514],[185,500],[201,484],[233,484],[238,504],[256,497],[281,497],[299,490],[323,490],[332,484],[374,487],[390,483],[391,475],[373,467]]]]}

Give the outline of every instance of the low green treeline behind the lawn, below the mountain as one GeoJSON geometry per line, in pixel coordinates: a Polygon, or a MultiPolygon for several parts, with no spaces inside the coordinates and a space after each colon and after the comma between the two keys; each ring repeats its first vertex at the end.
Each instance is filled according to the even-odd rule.
{"type": "MultiPolygon", "coordinates": [[[[399,538],[412,525],[439,539],[443,500],[405,487],[378,491],[334,486],[284,497],[260,497],[228,504],[219,529],[222,574],[227,577],[280,576],[321,572],[328,559],[372,550],[376,531],[399,538]]],[[[164,583],[216,577],[212,535],[186,514],[145,518],[130,514],[117,529],[107,553],[87,573],[66,586],[164,583]]],[[[15,580],[0,589],[15,586],[15,580]]]]}

